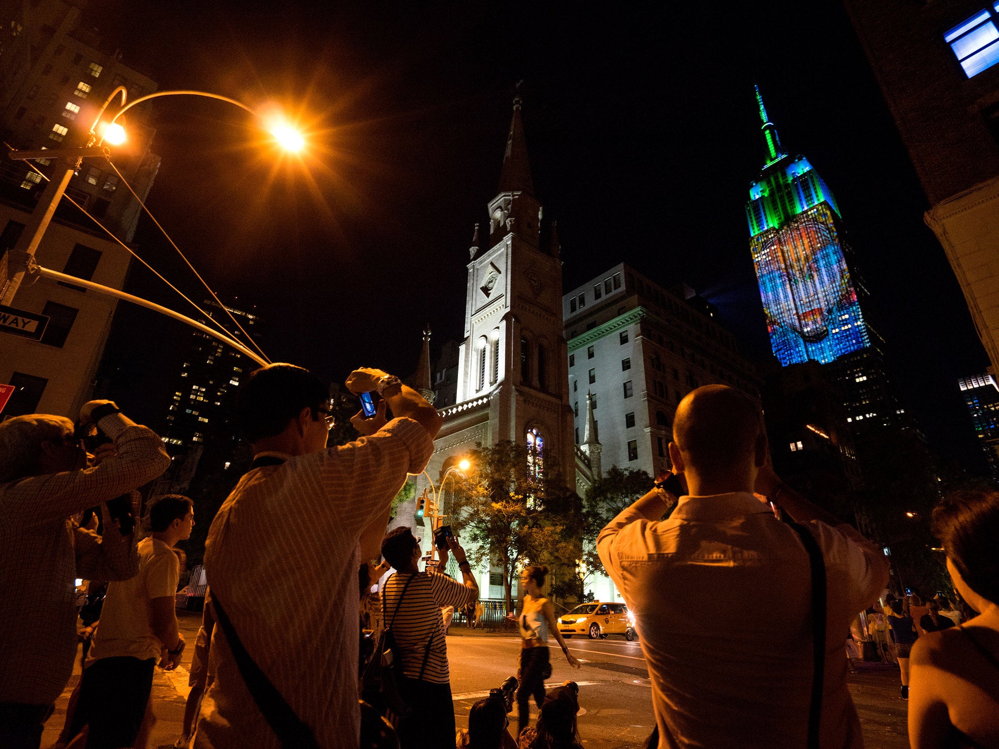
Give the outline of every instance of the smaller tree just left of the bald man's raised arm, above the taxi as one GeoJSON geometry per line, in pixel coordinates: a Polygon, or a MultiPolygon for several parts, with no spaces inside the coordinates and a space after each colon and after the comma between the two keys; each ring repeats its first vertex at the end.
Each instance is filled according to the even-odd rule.
{"type": "Polygon", "coordinates": [[[582,565],[576,572],[580,601],[587,597],[587,581],[603,569],[596,553],[596,537],[604,525],[651,488],[652,476],[644,470],[612,465],[586,490],[582,504],[582,565]]]}

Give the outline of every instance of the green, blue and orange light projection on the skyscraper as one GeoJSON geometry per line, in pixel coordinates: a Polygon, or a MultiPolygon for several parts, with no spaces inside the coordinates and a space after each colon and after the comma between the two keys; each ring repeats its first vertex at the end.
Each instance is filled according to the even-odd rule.
{"type": "Polygon", "coordinates": [[[770,347],[783,367],[828,364],[870,345],[836,228],[839,208],[807,159],[780,146],[759,89],[767,162],[746,219],[770,347]]]}

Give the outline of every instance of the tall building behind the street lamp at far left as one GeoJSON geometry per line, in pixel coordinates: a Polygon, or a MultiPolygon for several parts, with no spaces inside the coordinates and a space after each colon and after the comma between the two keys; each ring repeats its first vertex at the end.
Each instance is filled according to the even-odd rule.
{"type": "MultiPolygon", "coordinates": [[[[156,84],[121,61],[83,18],[84,4],[20,0],[0,4],[0,140],[18,149],[79,147],[101,105],[118,86],[130,100],[156,84]]],[[[117,105],[115,105],[117,106],[117,105]]],[[[114,107],[111,111],[115,111],[114,107]]],[[[154,131],[140,106],[128,116],[128,141],[112,157],[145,199],[160,159],[149,152],[154,131]]],[[[38,160],[46,176],[59,163],[38,160]]],[[[0,159],[0,287],[13,249],[45,187],[25,162],[0,159]]],[[[103,160],[85,160],[66,196],[130,242],[141,207],[103,160]]],[[[64,198],[35,255],[54,271],[121,289],[131,256],[64,198]]],[[[22,284],[13,307],[43,315],[40,341],[0,333],[0,382],[17,387],[2,416],[42,411],[70,417],[93,391],[118,301],[82,287],[41,279],[22,284]]],[[[0,416],[0,417],[2,417],[0,416]]]]}

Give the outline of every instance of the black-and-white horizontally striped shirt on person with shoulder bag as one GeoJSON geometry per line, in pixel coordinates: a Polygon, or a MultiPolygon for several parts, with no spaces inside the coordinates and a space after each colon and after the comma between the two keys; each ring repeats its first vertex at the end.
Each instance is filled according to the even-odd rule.
{"type": "Polygon", "coordinates": [[[411,679],[421,678],[435,684],[448,684],[448,645],[444,637],[444,606],[464,606],[476,600],[477,592],[453,577],[439,572],[404,574],[397,572],[384,587],[382,611],[385,626],[391,627],[403,651],[403,673],[411,679]],[[413,582],[403,588],[413,578],[413,582]],[[402,603],[400,603],[402,596],[402,603]],[[396,607],[399,612],[396,613],[396,607]],[[427,643],[430,642],[430,653],[427,643]],[[427,668],[424,669],[424,658],[427,668]]]}

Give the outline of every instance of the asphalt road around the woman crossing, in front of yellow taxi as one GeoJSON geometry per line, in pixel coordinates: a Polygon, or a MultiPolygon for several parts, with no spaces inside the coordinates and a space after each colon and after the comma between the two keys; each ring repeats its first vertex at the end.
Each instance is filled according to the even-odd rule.
{"type": "MultiPolygon", "coordinates": [[[[454,631],[454,630],[452,630],[454,631]]],[[[571,679],[579,684],[579,735],[586,747],[638,747],[652,732],[652,697],[645,660],[637,642],[623,637],[605,640],[566,640],[569,652],[582,661],[571,668],[557,644],[551,647],[549,687],[571,679]]],[[[520,640],[516,637],[449,637],[451,689],[455,698],[455,718],[460,728],[468,727],[469,710],[490,689],[499,687],[516,673],[520,640]]],[[[531,716],[537,708],[530,703],[531,716]]],[[[516,725],[516,705],[510,713],[516,725]]],[[[515,729],[514,729],[515,730],[515,729]]]]}

